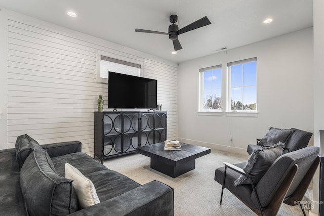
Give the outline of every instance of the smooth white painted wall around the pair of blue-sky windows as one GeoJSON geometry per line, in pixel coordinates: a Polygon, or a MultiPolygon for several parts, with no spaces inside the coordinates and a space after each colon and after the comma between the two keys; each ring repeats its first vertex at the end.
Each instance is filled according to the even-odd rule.
{"type": "MultiPolygon", "coordinates": [[[[313,28],[180,63],[180,140],[247,154],[248,144],[269,127],[313,132],[313,28]],[[199,68],[222,64],[225,102],[226,63],[257,57],[258,117],[198,115],[199,68]],[[233,141],[230,142],[232,136],[233,141]]],[[[225,106],[222,107],[225,111],[225,106]]],[[[312,145],[312,141],[310,143],[312,145]]]]}

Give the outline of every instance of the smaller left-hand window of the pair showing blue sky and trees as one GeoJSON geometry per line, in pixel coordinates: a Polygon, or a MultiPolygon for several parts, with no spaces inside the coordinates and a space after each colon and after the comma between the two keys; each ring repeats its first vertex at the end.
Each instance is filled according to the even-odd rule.
{"type": "Polygon", "coordinates": [[[199,111],[222,109],[222,66],[199,69],[200,102],[199,111]]]}

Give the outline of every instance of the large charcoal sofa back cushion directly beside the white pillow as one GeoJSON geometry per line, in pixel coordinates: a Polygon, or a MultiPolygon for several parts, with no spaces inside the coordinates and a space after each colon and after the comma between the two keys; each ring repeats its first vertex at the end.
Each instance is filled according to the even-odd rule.
{"type": "Polygon", "coordinates": [[[29,215],[67,215],[77,210],[72,180],[56,173],[44,149],[35,149],[26,158],[20,187],[29,215]]]}

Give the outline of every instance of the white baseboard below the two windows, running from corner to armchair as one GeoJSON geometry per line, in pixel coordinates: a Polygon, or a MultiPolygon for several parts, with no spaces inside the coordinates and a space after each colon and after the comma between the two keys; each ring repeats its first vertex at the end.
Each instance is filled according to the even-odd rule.
{"type": "Polygon", "coordinates": [[[227,152],[232,152],[236,154],[241,154],[241,155],[249,155],[247,152],[247,149],[242,149],[242,148],[237,148],[233,146],[224,146],[224,145],[219,145],[215,143],[207,143],[207,142],[201,142],[197,140],[189,140],[189,139],[184,139],[184,138],[178,138],[178,140],[182,143],[188,143],[188,144],[193,144],[197,146],[204,146],[207,148],[211,149],[216,149],[220,151],[227,151],[227,152]]]}

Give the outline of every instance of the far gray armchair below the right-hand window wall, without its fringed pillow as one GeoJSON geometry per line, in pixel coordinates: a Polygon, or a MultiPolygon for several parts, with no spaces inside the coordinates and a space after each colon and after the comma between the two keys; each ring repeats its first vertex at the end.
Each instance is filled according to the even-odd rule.
{"type": "MultiPolygon", "coordinates": [[[[287,143],[285,143],[284,141],[281,141],[282,143],[286,144],[286,147],[284,148],[284,152],[283,152],[284,154],[286,154],[288,152],[296,151],[301,148],[305,148],[308,145],[308,142],[313,135],[310,132],[302,131],[300,129],[296,129],[296,128],[291,128],[291,129],[294,129],[295,132],[289,138],[287,143]]],[[[260,139],[257,139],[256,145],[253,145],[253,144],[248,145],[247,152],[249,153],[249,155],[251,155],[255,149],[262,148],[262,145],[259,145],[259,142],[260,142],[260,139]]]]}

